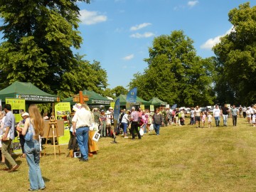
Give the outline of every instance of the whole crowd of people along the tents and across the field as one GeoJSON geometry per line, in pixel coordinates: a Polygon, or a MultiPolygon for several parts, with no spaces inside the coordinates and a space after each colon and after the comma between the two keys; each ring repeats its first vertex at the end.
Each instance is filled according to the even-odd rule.
{"type": "MultiPolygon", "coordinates": [[[[223,126],[228,127],[228,118],[233,119],[233,127],[237,126],[238,117],[246,117],[249,124],[256,126],[256,105],[250,107],[228,107],[224,105],[219,107],[215,105],[213,112],[201,111],[200,107],[191,107],[189,112],[190,120],[187,124],[195,124],[196,128],[213,127],[212,121],[215,121],[215,127],[220,127],[220,117],[223,118],[223,126]]],[[[53,114],[52,114],[53,116],[53,114]]],[[[51,117],[52,117],[51,116],[51,117]]],[[[4,111],[0,114],[0,147],[1,147],[1,164],[6,164],[2,170],[13,172],[18,169],[18,164],[11,156],[11,141],[18,131],[18,139],[21,143],[21,158],[28,162],[30,191],[46,188],[41,176],[39,166],[41,157],[41,139],[43,135],[43,120],[49,119],[48,114],[41,116],[36,105],[30,105],[28,112],[21,114],[23,118],[15,128],[15,117],[11,112],[11,105],[6,104],[4,111]]],[[[50,118],[51,118],[50,117],[50,118]]],[[[88,138],[92,124],[100,137],[116,137],[121,134],[125,139],[132,136],[131,139],[142,139],[142,136],[148,132],[160,134],[160,127],[173,125],[182,126],[186,124],[186,111],[178,108],[171,110],[169,108],[159,107],[154,112],[142,110],[142,108],[132,107],[131,110],[120,110],[117,119],[117,127],[114,128],[114,111],[112,107],[105,110],[90,108],[83,104],[79,108],[73,108],[73,112],[68,115],[70,125],[70,141],[68,149],[70,156],[73,152],[80,149],[81,158],[79,161],[88,161],[88,138]]]]}

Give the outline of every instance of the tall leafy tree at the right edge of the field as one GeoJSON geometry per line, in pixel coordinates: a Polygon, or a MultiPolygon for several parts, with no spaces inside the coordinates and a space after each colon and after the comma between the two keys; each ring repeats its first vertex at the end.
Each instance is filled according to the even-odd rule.
{"type": "Polygon", "coordinates": [[[241,4],[228,16],[233,31],[213,47],[220,63],[218,95],[227,90],[233,98],[229,102],[249,105],[256,102],[256,6],[241,4]]]}

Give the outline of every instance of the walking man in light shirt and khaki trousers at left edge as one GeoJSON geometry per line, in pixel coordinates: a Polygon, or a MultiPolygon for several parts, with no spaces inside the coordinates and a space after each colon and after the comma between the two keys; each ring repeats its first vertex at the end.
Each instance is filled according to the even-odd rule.
{"type": "Polygon", "coordinates": [[[4,171],[12,172],[18,168],[18,164],[14,161],[9,154],[11,149],[11,141],[14,139],[14,132],[15,132],[15,117],[14,114],[11,112],[11,105],[6,104],[4,106],[4,112],[6,112],[6,117],[4,119],[4,134],[2,137],[2,146],[1,152],[4,154],[6,168],[4,171]]]}

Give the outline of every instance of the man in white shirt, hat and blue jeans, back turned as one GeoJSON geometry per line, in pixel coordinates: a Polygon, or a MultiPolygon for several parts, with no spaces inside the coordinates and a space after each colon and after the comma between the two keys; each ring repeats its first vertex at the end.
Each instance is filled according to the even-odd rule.
{"type": "Polygon", "coordinates": [[[81,109],[75,112],[75,115],[72,119],[73,134],[76,134],[78,145],[82,154],[82,159],[79,161],[88,161],[89,127],[93,121],[90,111],[85,110],[86,107],[87,105],[82,104],[81,109]]]}

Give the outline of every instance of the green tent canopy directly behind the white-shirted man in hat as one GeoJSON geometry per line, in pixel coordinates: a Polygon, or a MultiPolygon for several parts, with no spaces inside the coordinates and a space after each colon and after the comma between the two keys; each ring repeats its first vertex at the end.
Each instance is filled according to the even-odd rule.
{"type": "MultiPolygon", "coordinates": [[[[82,95],[87,95],[89,97],[89,101],[87,102],[88,105],[110,105],[111,100],[97,94],[97,92],[83,90],[82,95]]],[[[63,102],[70,102],[71,105],[75,105],[75,102],[73,102],[73,97],[69,97],[63,100],[63,102]]]]}

